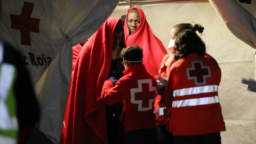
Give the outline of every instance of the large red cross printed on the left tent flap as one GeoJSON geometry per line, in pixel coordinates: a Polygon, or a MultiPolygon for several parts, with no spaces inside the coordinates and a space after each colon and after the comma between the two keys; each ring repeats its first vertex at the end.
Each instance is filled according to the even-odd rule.
{"type": "Polygon", "coordinates": [[[11,28],[20,30],[22,45],[31,45],[30,32],[39,33],[40,19],[32,18],[34,3],[24,2],[20,15],[10,14],[11,28]]]}

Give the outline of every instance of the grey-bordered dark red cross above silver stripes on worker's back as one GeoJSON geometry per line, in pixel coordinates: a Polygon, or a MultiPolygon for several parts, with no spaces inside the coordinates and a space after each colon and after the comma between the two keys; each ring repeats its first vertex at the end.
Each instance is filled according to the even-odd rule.
{"type": "Polygon", "coordinates": [[[209,66],[203,66],[202,61],[192,61],[192,67],[187,68],[188,80],[194,79],[195,85],[206,84],[206,78],[211,77],[211,70],[209,66]]]}

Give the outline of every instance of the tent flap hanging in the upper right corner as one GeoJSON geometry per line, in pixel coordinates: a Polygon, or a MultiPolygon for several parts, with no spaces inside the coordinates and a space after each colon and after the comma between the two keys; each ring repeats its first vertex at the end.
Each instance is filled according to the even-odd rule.
{"type": "Polygon", "coordinates": [[[248,12],[245,8],[247,6],[241,6],[237,1],[218,1],[210,0],[214,10],[224,20],[228,29],[240,40],[247,43],[254,49],[256,49],[256,1],[252,0],[248,6],[254,6],[254,11],[248,7],[248,12]],[[228,7],[227,7],[228,6],[228,7]],[[235,17],[234,17],[235,15],[235,17]]]}

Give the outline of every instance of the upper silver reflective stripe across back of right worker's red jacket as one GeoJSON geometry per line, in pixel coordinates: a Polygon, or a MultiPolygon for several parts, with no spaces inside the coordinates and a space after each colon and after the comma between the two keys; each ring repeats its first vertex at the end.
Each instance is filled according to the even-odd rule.
{"type": "Polygon", "coordinates": [[[217,85],[197,86],[193,88],[183,88],[179,90],[174,90],[173,97],[184,96],[184,95],[194,95],[194,94],[200,94],[200,93],[211,93],[211,92],[217,92],[217,91],[218,91],[217,85]]]}

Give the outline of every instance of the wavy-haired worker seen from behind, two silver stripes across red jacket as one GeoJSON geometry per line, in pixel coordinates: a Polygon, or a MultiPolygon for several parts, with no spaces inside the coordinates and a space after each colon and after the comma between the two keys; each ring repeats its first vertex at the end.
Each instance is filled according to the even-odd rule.
{"type": "Polygon", "coordinates": [[[194,31],[181,31],[174,50],[165,97],[175,144],[220,144],[225,131],[218,98],[221,69],[205,57],[205,44],[194,31]]]}

